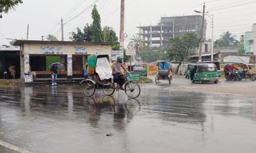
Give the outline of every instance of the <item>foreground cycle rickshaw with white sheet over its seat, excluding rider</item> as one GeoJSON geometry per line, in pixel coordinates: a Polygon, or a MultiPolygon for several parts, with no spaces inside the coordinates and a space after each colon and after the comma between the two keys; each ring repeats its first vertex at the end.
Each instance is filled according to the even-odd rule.
{"type": "MultiPolygon", "coordinates": [[[[118,85],[113,83],[112,69],[109,64],[108,55],[88,56],[88,75],[88,78],[80,82],[84,94],[88,97],[93,96],[96,89],[102,89],[106,96],[111,96],[115,91],[119,90],[118,85]]],[[[129,98],[138,98],[141,92],[140,86],[136,82],[133,82],[131,73],[127,73],[124,77],[125,94],[129,98]]]]}

